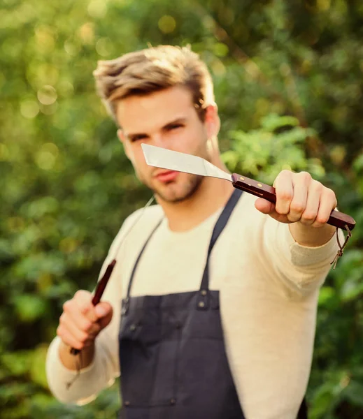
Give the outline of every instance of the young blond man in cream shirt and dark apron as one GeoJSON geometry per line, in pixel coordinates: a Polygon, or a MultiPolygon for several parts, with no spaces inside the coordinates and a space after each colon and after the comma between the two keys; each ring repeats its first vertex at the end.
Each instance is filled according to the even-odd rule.
{"type": "Polygon", "coordinates": [[[52,392],[87,402],[121,374],[126,418],[297,418],[318,291],[338,249],[327,224],[334,192],[283,170],[272,205],[220,179],[148,166],[143,142],[227,171],[211,76],[186,47],[101,61],[94,75],[158,205],[124,222],[102,302],[78,291],[64,304],[48,352],[52,392]],[[68,389],[72,347],[82,356],[68,389]]]}

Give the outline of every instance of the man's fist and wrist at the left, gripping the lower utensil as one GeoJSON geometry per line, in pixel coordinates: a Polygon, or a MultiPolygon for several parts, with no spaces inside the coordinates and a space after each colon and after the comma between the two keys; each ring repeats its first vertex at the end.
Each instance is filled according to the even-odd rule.
{"type": "Polygon", "coordinates": [[[94,339],[111,322],[112,315],[111,304],[103,301],[94,306],[89,291],[77,291],[71,300],[63,304],[57,335],[62,339],[59,355],[65,367],[74,369],[74,355],[70,354],[71,348],[84,350],[85,356],[82,357],[81,367],[92,362],[94,339]]]}

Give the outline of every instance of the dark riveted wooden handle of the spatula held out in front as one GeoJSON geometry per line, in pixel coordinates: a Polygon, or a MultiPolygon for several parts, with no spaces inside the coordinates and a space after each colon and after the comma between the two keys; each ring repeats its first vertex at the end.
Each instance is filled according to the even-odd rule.
{"type": "MultiPolygon", "coordinates": [[[[232,182],[233,186],[237,189],[252,193],[252,195],[258,196],[259,198],[264,198],[270,203],[276,203],[276,191],[273,186],[257,182],[248,177],[238,175],[237,173],[232,175],[232,182]]],[[[336,210],[332,211],[327,223],[334,227],[343,228],[343,230],[346,230],[346,226],[348,226],[350,230],[355,228],[355,220],[350,215],[343,214],[343,212],[336,210]]]]}

